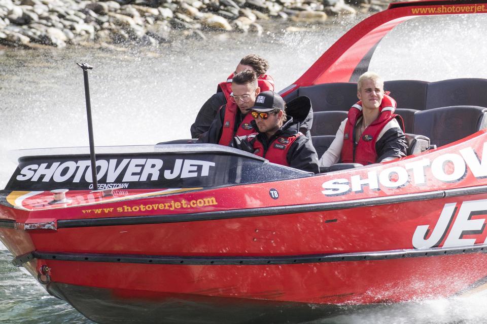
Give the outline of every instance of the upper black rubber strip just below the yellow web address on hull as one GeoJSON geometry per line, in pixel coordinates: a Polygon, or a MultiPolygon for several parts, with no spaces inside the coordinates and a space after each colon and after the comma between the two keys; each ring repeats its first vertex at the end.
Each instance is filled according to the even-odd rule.
{"type": "Polygon", "coordinates": [[[462,195],[471,195],[486,193],[487,186],[468,187],[460,189],[438,190],[431,192],[412,193],[396,196],[366,198],[346,201],[333,201],[331,203],[263,207],[252,209],[237,209],[218,212],[190,213],[190,214],[173,214],[173,215],[137,215],[128,217],[106,217],[90,219],[70,219],[58,220],[57,228],[72,227],[92,227],[92,226],[116,226],[116,225],[138,225],[138,224],[161,224],[161,223],[178,223],[208,221],[218,219],[240,218],[240,217],[259,217],[273,216],[298,213],[312,213],[331,211],[339,209],[349,209],[357,207],[368,207],[387,204],[408,203],[410,201],[420,201],[428,199],[437,199],[444,197],[455,197],[462,195]]]}

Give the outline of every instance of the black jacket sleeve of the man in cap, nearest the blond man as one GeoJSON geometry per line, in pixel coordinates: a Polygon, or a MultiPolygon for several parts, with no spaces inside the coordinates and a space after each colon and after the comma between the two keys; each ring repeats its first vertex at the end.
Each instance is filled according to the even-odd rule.
{"type": "Polygon", "coordinates": [[[318,154],[311,140],[304,135],[300,135],[289,148],[286,156],[289,166],[295,169],[320,173],[318,166],[318,154]]]}

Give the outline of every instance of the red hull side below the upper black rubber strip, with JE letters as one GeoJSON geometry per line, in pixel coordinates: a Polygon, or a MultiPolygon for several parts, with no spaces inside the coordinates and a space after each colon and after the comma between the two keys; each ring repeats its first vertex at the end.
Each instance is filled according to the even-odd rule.
{"type": "Polygon", "coordinates": [[[59,220],[52,228],[39,218],[22,228],[12,220],[0,237],[14,251],[14,264],[99,323],[235,322],[232,314],[241,314],[241,322],[306,322],[344,306],[483,289],[487,231],[467,232],[465,224],[485,222],[487,194],[465,192],[396,203],[361,200],[362,207],[342,209],[302,206],[301,213],[172,215],[167,222],[106,217],[59,220]],[[435,235],[437,244],[417,246],[435,235]],[[473,244],[447,243],[466,239],[473,244]]]}

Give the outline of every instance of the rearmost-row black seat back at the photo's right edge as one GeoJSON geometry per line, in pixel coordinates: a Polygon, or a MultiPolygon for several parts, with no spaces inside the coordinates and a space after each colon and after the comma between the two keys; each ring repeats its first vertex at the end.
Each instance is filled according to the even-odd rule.
{"type": "MultiPolygon", "coordinates": [[[[448,106],[487,107],[487,79],[461,78],[430,82],[426,109],[448,106]]],[[[416,107],[408,107],[415,108],[416,107]]]]}

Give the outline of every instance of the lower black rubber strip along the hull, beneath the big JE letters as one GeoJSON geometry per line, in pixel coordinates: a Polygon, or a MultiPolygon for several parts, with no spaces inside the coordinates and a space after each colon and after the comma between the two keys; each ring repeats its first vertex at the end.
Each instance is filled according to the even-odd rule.
{"type": "Polygon", "coordinates": [[[15,258],[12,263],[21,266],[33,258],[58,261],[112,262],[138,264],[179,264],[179,265],[269,265],[302,264],[341,261],[376,261],[402,258],[421,258],[449,256],[487,252],[487,244],[465,247],[407,249],[380,252],[361,252],[343,254],[314,254],[279,257],[206,257],[206,256],[158,256],[133,254],[94,254],[94,253],[59,253],[34,251],[15,258]]]}

